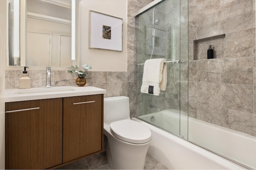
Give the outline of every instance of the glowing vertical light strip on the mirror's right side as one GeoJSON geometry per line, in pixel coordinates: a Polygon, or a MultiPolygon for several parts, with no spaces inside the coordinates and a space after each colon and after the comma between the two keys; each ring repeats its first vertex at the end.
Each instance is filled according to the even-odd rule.
{"type": "Polygon", "coordinates": [[[71,6],[71,60],[76,60],[76,0],[72,0],[71,6]]]}

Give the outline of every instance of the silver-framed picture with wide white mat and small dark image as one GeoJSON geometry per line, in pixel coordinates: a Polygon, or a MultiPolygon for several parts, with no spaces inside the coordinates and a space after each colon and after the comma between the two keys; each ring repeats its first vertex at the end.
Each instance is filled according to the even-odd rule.
{"type": "Polygon", "coordinates": [[[89,49],[122,51],[123,19],[89,10],[89,49]]]}

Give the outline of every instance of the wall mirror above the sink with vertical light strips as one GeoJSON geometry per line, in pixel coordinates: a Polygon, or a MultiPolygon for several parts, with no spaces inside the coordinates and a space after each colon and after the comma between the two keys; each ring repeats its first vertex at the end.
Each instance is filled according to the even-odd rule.
{"type": "Polygon", "coordinates": [[[79,65],[79,0],[9,0],[8,65],[79,65]]]}

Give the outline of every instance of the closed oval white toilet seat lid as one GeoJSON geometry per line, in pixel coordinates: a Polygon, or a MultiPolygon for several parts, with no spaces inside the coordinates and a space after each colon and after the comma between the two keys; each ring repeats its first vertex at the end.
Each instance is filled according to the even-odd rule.
{"type": "Polygon", "coordinates": [[[110,123],[110,131],[116,138],[129,143],[142,144],[151,140],[148,127],[130,119],[110,123]]]}

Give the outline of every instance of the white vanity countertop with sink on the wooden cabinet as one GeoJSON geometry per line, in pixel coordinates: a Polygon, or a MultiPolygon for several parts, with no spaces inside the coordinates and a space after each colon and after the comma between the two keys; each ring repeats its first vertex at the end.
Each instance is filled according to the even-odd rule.
{"type": "Polygon", "coordinates": [[[93,86],[56,86],[52,88],[5,89],[5,102],[64,98],[72,96],[87,96],[106,94],[106,90],[93,86]]]}

